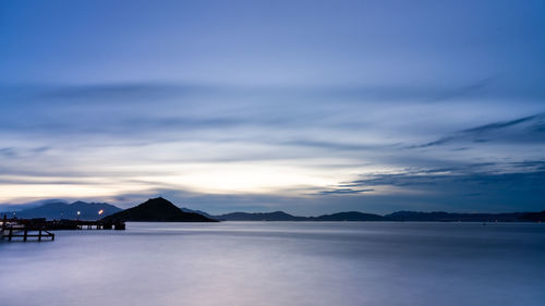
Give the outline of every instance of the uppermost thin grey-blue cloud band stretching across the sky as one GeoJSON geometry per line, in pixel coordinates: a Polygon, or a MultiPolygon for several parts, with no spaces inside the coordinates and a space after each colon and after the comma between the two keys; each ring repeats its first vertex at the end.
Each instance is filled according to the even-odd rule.
{"type": "MultiPolygon", "coordinates": [[[[470,82],[449,84],[376,84],[362,83],[351,85],[227,85],[203,82],[111,82],[92,84],[17,84],[0,86],[0,103],[11,101],[43,103],[135,103],[157,102],[193,97],[231,97],[272,98],[280,100],[295,99],[300,102],[330,102],[334,100],[353,102],[444,102],[459,97],[468,98],[481,89],[497,83],[498,75],[470,82]]],[[[502,86],[501,88],[506,88],[502,86]]],[[[489,90],[493,97],[505,97],[505,91],[489,90]],[[496,94],[494,94],[496,93],[496,94]]],[[[543,93],[538,97],[543,98],[543,93]]]]}

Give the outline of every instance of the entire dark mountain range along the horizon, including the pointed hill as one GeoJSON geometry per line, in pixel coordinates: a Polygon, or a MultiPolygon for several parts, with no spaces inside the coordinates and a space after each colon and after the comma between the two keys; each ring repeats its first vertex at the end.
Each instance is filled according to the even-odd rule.
{"type": "MultiPolygon", "coordinates": [[[[11,206],[15,207],[15,206],[11,206]]],[[[507,213],[457,213],[445,211],[397,211],[380,216],[359,211],[337,212],[318,217],[299,217],[283,211],[272,212],[231,212],[211,216],[201,210],[179,208],[165,198],[149,199],[136,207],[122,210],[107,203],[62,201],[47,203],[39,207],[23,209],[21,211],[4,211],[9,217],[17,218],[47,218],[47,219],[77,219],[81,220],[108,220],[120,219],[124,221],[174,221],[174,222],[210,222],[220,221],[435,221],[435,222],[545,222],[545,210],[541,212],[507,212],[507,213]],[[101,215],[98,211],[102,210],[101,215]]]]}

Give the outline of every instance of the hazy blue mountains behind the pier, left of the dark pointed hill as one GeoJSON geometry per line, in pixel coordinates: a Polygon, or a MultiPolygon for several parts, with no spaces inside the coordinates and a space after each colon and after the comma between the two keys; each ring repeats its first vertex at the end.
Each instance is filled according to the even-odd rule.
{"type": "Polygon", "coordinates": [[[122,209],[107,203],[85,203],[74,201],[72,204],[63,201],[46,203],[43,206],[27,208],[21,211],[3,211],[0,216],[8,215],[9,217],[17,218],[46,218],[46,219],[80,219],[80,220],[97,220],[104,216],[109,216],[121,211],[122,209]],[[102,213],[98,213],[99,211],[102,213]],[[80,216],[77,216],[80,211],[80,216]]]}

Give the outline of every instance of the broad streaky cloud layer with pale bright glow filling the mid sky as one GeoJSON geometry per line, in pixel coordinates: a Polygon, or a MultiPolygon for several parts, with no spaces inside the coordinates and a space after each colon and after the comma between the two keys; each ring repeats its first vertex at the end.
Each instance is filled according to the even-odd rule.
{"type": "MultiPolygon", "coordinates": [[[[380,203],[395,208],[397,200],[402,200],[396,196],[400,192],[413,188],[427,194],[434,193],[434,186],[440,187],[435,193],[448,191],[444,186],[455,176],[470,175],[469,170],[458,173],[468,164],[473,164],[475,173],[485,173],[474,164],[488,160],[493,162],[481,168],[500,171],[510,167],[526,172],[542,169],[538,163],[506,166],[537,158],[528,154],[531,150],[525,150],[525,145],[543,143],[538,134],[542,113],[464,128],[456,115],[436,112],[448,105],[465,114],[465,108],[472,106],[451,101],[488,90],[494,82],[431,88],[246,88],[153,82],[45,86],[12,95],[17,103],[5,107],[0,114],[0,181],[3,186],[17,185],[25,191],[35,183],[40,191],[66,191],[65,186],[72,185],[85,189],[85,196],[104,191],[97,192],[97,200],[134,189],[187,189],[202,193],[190,198],[217,210],[225,207],[216,206],[214,195],[206,192],[219,189],[226,195],[216,199],[254,209],[295,206],[304,210],[301,203],[320,206],[325,212],[341,210],[325,209],[326,198],[347,209],[358,209],[355,198],[373,209],[380,210],[380,203]],[[446,103],[438,106],[439,100],[446,103]],[[424,108],[431,111],[421,115],[424,108]],[[416,113],[419,117],[408,120],[416,113]],[[448,123],[460,132],[410,147],[434,150],[411,151],[402,145],[426,135],[440,135],[443,130],[435,127],[441,119],[450,120],[448,123]],[[500,140],[507,144],[505,150],[486,149],[483,143],[500,140]],[[475,154],[477,146],[483,150],[475,154]],[[487,158],[480,160],[482,156],[487,158]],[[413,170],[407,169],[419,172],[411,175],[413,170]],[[233,172],[239,178],[252,178],[268,195],[234,195],[234,189],[230,195],[222,186],[226,184],[218,181],[218,171],[227,181],[233,172]],[[358,173],[367,176],[352,180],[358,173]],[[298,179],[278,179],[281,175],[298,179]]],[[[463,188],[460,192],[471,194],[463,188]]],[[[63,194],[51,192],[47,196],[63,194]]],[[[422,197],[422,203],[432,201],[445,203],[422,197]]]]}

